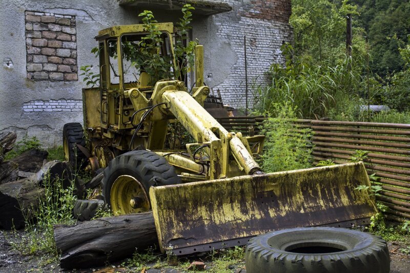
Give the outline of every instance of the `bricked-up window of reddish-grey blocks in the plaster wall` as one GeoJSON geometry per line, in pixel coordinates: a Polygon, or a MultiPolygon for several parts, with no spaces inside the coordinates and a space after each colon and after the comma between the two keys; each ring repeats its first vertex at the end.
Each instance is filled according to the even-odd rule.
{"type": "Polygon", "coordinates": [[[26,11],[27,78],[77,80],[75,16],[26,11]]]}

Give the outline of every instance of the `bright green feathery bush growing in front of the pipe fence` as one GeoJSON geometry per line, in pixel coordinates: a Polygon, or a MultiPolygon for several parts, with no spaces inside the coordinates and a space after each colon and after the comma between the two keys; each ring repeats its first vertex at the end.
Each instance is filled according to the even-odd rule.
{"type": "Polygon", "coordinates": [[[295,128],[296,114],[292,106],[273,105],[276,118],[262,124],[266,136],[262,154],[262,169],[267,172],[289,171],[312,166],[311,129],[295,128]]]}

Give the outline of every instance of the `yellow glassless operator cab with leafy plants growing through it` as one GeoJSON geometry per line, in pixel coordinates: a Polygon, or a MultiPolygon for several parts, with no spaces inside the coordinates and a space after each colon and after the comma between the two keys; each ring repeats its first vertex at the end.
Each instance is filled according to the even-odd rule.
{"type": "Polygon", "coordinates": [[[156,78],[153,77],[156,75],[150,76],[144,67],[147,61],[144,58],[154,53],[169,64],[169,70],[163,71],[161,75],[174,77],[173,25],[167,23],[156,26],[161,34],[160,40],[155,41],[147,39],[147,32],[142,25],[116,26],[98,32],[95,38],[98,41],[101,90],[126,90],[155,85],[156,78]],[[160,43],[160,46],[155,45],[157,52],[144,52],[149,47],[141,47],[141,43],[160,43]]]}

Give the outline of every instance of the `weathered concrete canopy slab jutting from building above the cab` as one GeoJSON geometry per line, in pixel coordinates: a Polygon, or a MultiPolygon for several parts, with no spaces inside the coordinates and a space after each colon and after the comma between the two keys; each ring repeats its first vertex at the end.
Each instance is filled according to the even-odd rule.
{"type": "Polygon", "coordinates": [[[158,8],[163,10],[180,10],[185,4],[191,4],[195,10],[193,13],[201,15],[213,15],[232,10],[232,7],[222,1],[207,1],[207,0],[173,0],[170,4],[168,0],[119,0],[119,5],[122,7],[138,7],[138,8],[158,8]]]}

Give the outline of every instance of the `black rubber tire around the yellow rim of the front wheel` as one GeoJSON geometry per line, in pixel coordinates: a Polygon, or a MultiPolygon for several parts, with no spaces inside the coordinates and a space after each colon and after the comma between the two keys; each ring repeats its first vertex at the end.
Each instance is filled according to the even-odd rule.
{"type": "Polygon", "coordinates": [[[131,151],[115,157],[104,170],[103,196],[109,207],[111,187],[121,175],[136,178],[144,186],[148,199],[151,186],[181,183],[181,178],[177,176],[174,167],[164,157],[146,150],[131,151]]]}

